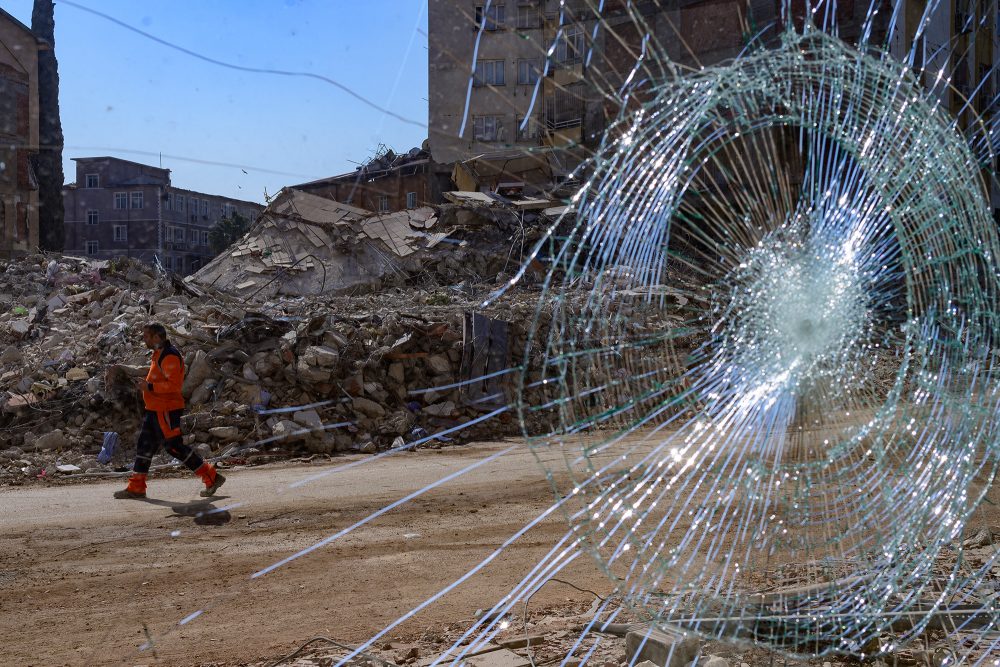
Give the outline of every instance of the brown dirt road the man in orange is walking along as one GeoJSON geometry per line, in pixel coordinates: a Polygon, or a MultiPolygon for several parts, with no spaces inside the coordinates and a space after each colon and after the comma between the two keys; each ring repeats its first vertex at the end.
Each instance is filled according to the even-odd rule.
{"type": "MultiPolygon", "coordinates": [[[[230,665],[283,655],[314,635],[360,643],[552,503],[523,444],[252,575],[512,444],[236,470],[210,503],[193,477],[151,480],[147,501],[113,500],[120,481],[0,490],[0,663],[230,665]],[[155,655],[139,650],[149,638],[155,655]]],[[[471,619],[565,530],[553,514],[401,631],[471,619]]],[[[562,576],[609,588],[589,559],[562,576]]],[[[572,591],[543,590],[539,603],[545,595],[572,591]]]]}

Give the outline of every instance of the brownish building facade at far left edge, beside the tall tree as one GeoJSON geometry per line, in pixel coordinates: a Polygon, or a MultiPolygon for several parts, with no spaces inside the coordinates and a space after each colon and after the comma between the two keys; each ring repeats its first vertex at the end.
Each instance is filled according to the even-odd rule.
{"type": "Polygon", "coordinates": [[[0,256],[38,245],[38,52],[48,43],[0,9],[0,256]]]}

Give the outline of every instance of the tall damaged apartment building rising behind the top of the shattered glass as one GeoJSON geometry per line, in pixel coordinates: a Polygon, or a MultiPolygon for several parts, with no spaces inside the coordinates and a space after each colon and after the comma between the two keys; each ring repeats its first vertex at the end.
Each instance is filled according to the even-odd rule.
{"type": "MultiPolygon", "coordinates": [[[[973,111],[995,117],[998,106],[991,105],[989,78],[976,91],[968,84],[992,66],[1000,25],[973,24],[966,4],[942,4],[921,37],[916,26],[927,2],[905,0],[901,29],[891,36],[891,52],[900,60],[919,38],[926,44],[916,44],[918,64],[932,54],[930,71],[955,72],[955,88],[942,88],[941,102],[961,127],[973,111]]],[[[892,14],[885,5],[866,28],[868,3],[838,2],[840,37],[856,42],[867,29],[873,41],[885,40],[892,14]]],[[[596,6],[589,0],[430,0],[429,146],[437,161],[454,164],[458,189],[553,192],[604,139],[621,111],[614,100],[644,48],[697,69],[730,60],[751,42],[773,44],[783,30],[781,0],[606,0],[599,16],[596,6]]],[[[792,3],[794,21],[805,11],[805,4],[792,3]]],[[[655,69],[657,62],[646,59],[636,80],[668,77],[655,69]]],[[[641,99],[641,85],[635,92],[633,99],[641,99]]]]}

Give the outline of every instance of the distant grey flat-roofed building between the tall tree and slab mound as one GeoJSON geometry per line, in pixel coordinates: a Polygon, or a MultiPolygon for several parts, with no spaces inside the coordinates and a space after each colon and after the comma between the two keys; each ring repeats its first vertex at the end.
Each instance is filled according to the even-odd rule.
{"type": "Polygon", "coordinates": [[[264,208],[175,187],[169,169],[114,157],[74,162],[76,183],[63,189],[67,254],[135,257],[187,274],[214,256],[209,232],[220,220],[253,221],[264,208]]]}

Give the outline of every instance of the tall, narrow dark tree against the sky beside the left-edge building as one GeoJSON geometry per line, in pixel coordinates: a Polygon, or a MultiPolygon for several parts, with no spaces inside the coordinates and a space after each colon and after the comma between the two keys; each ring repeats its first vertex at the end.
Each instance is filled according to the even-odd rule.
{"type": "Polygon", "coordinates": [[[59,118],[59,63],[56,61],[56,19],[53,0],[35,0],[31,31],[48,42],[38,52],[38,242],[42,250],[62,252],[63,170],[62,121],[59,118]]]}

